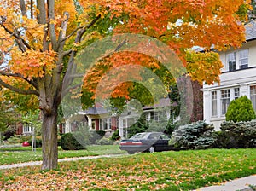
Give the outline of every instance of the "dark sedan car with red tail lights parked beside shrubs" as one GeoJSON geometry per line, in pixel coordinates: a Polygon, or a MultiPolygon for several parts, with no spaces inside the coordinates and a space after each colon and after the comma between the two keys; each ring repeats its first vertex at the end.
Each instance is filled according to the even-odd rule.
{"type": "Polygon", "coordinates": [[[170,137],[162,132],[144,132],[131,136],[130,139],[120,142],[120,149],[128,153],[150,152],[171,150],[168,145],[170,137]]]}

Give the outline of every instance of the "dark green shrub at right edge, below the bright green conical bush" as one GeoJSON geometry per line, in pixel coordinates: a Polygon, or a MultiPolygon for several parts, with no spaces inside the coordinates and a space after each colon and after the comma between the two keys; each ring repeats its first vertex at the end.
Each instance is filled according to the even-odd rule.
{"type": "Polygon", "coordinates": [[[256,121],[221,124],[216,145],[218,148],[256,148],[256,121]]]}

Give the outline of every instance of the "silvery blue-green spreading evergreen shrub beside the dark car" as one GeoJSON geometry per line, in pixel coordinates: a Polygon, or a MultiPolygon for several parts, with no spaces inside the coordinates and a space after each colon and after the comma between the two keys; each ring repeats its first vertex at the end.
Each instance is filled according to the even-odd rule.
{"type": "Polygon", "coordinates": [[[215,141],[213,125],[198,121],[177,127],[169,143],[176,149],[205,149],[213,148],[215,141]]]}

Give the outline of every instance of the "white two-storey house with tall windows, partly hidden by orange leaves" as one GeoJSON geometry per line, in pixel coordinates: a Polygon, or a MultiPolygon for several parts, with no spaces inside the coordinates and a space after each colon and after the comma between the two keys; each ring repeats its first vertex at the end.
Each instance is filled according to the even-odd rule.
{"type": "Polygon", "coordinates": [[[240,49],[219,52],[224,64],[220,84],[203,85],[204,119],[219,130],[230,101],[247,96],[256,110],[256,21],[246,25],[246,43],[240,49]]]}

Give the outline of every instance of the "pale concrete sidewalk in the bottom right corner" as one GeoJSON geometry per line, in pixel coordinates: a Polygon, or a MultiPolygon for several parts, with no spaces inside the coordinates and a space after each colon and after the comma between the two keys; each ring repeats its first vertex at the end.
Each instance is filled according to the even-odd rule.
{"type": "Polygon", "coordinates": [[[197,191],[255,191],[256,175],[241,177],[230,182],[224,182],[218,186],[199,188],[197,191]],[[254,186],[250,188],[249,186],[254,186]]]}

